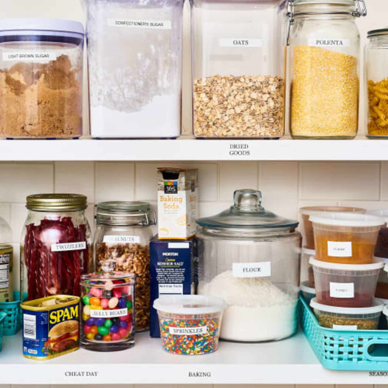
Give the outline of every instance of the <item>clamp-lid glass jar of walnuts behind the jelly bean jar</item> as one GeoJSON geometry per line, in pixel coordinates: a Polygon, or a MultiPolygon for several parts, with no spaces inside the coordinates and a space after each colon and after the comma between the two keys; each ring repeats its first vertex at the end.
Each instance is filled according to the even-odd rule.
{"type": "Polygon", "coordinates": [[[156,214],[147,202],[102,202],[95,216],[94,252],[98,270],[115,260],[115,271],[136,275],[136,330],[149,329],[151,272],[149,242],[156,214]]]}

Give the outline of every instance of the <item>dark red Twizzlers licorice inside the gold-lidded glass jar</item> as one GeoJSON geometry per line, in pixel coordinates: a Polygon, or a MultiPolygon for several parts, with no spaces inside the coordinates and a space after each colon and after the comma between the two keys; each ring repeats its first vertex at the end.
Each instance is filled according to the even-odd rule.
{"type": "Polygon", "coordinates": [[[56,294],[79,296],[81,274],[89,272],[89,249],[87,225],[75,226],[71,217],[26,225],[28,300],[56,294]]]}

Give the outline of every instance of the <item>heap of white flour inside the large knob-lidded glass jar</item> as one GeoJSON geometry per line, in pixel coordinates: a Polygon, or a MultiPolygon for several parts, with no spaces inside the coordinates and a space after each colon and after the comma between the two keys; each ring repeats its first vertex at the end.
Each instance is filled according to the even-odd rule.
{"type": "Polygon", "coordinates": [[[285,293],[265,278],[236,278],[225,271],[199,287],[229,305],[220,337],[232,341],[270,341],[291,336],[297,327],[297,293],[285,293]]]}

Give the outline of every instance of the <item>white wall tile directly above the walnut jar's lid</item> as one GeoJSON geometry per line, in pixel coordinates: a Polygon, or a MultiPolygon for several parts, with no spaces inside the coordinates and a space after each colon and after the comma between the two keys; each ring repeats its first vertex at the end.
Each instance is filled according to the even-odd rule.
{"type": "Polygon", "coordinates": [[[135,164],[97,162],[95,168],[95,203],[132,201],[135,196],[135,164]]]}

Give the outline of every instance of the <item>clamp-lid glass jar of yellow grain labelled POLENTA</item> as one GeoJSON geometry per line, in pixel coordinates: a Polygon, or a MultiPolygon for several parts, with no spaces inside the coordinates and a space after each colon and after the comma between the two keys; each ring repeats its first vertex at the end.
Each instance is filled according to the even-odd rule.
{"type": "Polygon", "coordinates": [[[351,139],[359,114],[364,0],[291,0],[291,117],[294,138],[351,139]]]}

